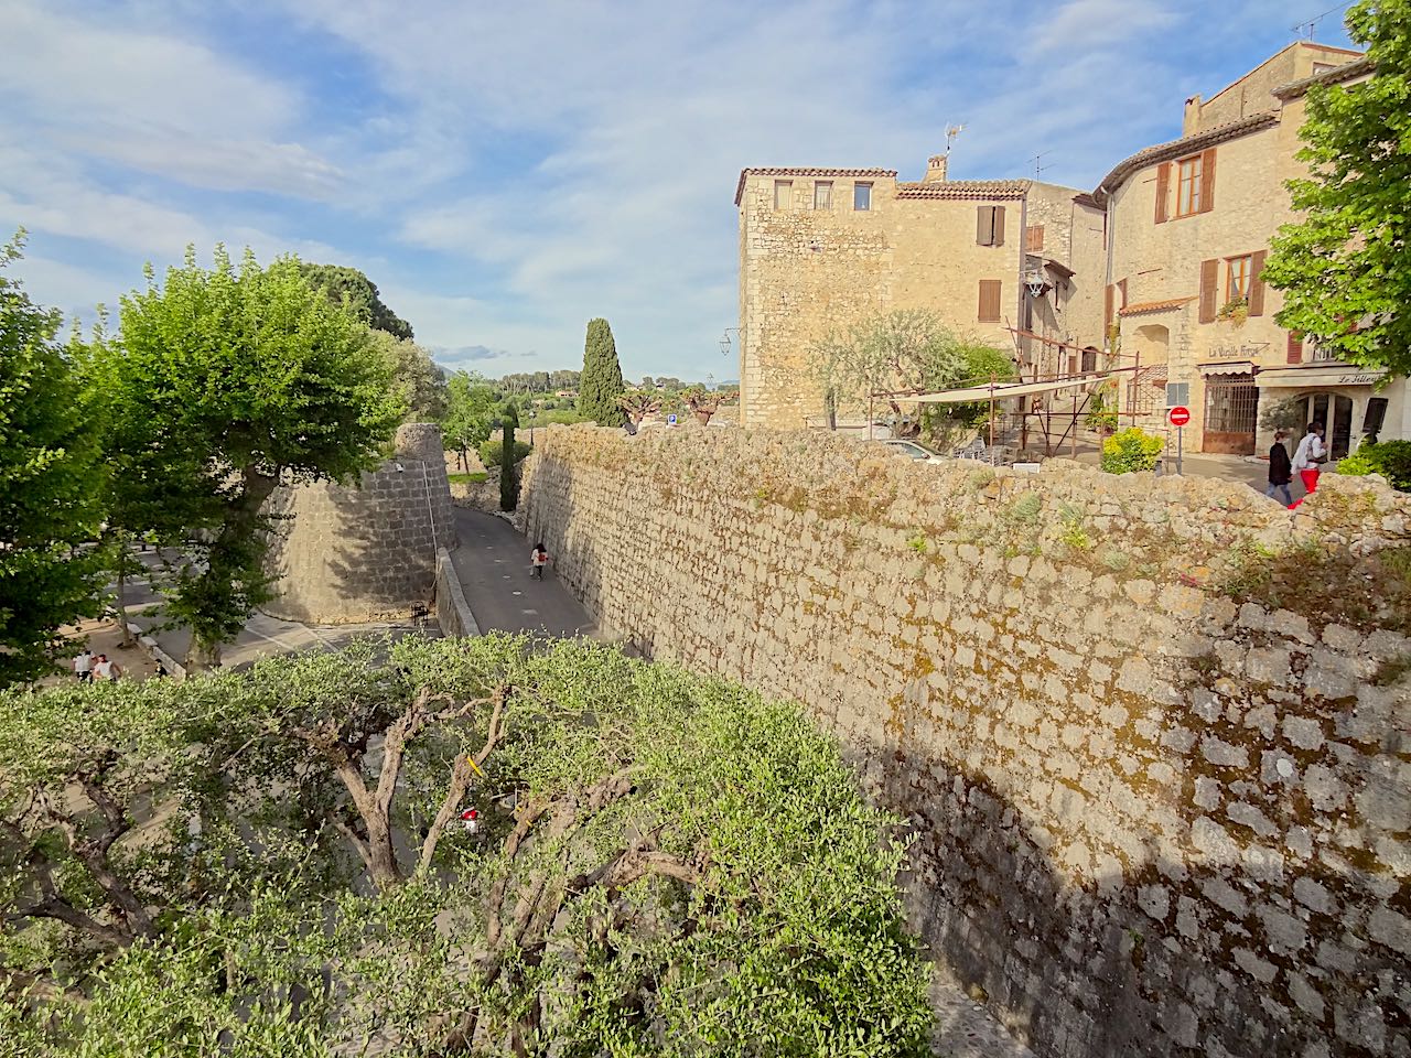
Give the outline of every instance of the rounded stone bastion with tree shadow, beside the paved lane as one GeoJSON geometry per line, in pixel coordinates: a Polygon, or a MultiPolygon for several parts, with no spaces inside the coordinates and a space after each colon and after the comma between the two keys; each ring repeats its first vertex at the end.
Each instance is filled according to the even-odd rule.
{"type": "Polygon", "coordinates": [[[288,621],[406,618],[432,601],[436,549],[456,546],[440,429],[429,423],[402,426],[392,458],[360,488],[281,488],[265,509],[278,595],[264,609],[288,621]]]}

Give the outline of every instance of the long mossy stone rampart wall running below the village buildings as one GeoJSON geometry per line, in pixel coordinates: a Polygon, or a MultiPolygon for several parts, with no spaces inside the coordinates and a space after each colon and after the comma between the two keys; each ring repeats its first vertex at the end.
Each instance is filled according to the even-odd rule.
{"type": "Polygon", "coordinates": [[[1041,1055],[1411,1055],[1411,498],[553,429],[523,508],[648,656],[804,701],[1041,1055]]]}

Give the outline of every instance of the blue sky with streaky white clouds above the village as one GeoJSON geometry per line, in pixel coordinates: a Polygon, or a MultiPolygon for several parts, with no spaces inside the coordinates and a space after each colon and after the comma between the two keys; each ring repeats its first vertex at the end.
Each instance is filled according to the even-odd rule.
{"type": "Polygon", "coordinates": [[[628,377],[734,378],[741,168],[919,179],[964,123],[952,178],[1091,189],[1328,6],[0,0],[0,230],[85,320],[224,241],[361,268],[447,367],[605,316],[628,377]]]}

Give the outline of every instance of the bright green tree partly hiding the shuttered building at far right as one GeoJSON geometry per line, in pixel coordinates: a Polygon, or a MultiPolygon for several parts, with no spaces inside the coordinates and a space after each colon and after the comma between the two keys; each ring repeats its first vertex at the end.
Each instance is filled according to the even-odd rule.
{"type": "Polygon", "coordinates": [[[1393,375],[1411,372],[1411,4],[1363,0],[1348,35],[1373,73],[1308,86],[1288,182],[1302,213],[1273,240],[1264,282],[1284,292],[1276,319],[1319,350],[1393,375]]]}

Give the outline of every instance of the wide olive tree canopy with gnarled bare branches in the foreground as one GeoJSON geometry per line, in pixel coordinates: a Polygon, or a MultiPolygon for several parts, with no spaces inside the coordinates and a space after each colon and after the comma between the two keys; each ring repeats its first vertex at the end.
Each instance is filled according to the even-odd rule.
{"type": "Polygon", "coordinates": [[[23,1058],[930,1054],[899,821],[797,705],[611,646],[0,693],[0,776],[23,1058]]]}

